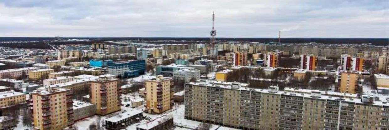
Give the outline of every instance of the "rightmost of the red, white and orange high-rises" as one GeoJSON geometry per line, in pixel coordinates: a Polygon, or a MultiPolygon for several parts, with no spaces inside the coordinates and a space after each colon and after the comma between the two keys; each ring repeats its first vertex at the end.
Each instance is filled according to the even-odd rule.
{"type": "Polygon", "coordinates": [[[344,54],[341,56],[341,67],[343,71],[363,71],[363,58],[351,57],[344,54]]]}

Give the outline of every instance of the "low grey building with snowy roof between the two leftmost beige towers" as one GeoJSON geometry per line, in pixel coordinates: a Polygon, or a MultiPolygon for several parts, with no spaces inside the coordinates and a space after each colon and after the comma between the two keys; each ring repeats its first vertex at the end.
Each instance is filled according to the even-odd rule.
{"type": "Polygon", "coordinates": [[[89,102],[73,100],[73,112],[74,121],[82,120],[84,118],[93,116],[96,114],[95,104],[89,102]]]}

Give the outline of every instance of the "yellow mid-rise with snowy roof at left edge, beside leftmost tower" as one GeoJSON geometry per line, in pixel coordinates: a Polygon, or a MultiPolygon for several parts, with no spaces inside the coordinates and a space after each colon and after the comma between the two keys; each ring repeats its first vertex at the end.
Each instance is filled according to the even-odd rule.
{"type": "Polygon", "coordinates": [[[26,94],[21,92],[4,91],[0,92],[0,108],[10,107],[26,103],[26,94]]]}

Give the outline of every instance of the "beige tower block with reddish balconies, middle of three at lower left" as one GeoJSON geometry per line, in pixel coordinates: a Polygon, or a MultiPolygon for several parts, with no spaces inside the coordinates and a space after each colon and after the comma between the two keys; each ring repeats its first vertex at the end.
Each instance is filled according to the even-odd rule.
{"type": "Polygon", "coordinates": [[[91,81],[90,100],[96,105],[96,114],[107,115],[120,111],[121,87],[117,86],[117,78],[100,77],[91,81]]]}

